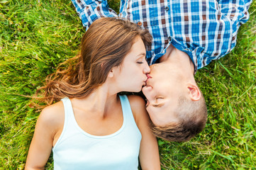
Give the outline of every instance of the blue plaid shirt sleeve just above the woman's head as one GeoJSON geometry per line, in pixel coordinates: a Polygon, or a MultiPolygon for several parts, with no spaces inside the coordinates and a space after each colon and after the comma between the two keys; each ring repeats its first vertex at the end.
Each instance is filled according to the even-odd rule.
{"type": "Polygon", "coordinates": [[[118,16],[113,9],[108,8],[106,0],[72,0],[72,3],[86,29],[97,18],[118,16]]]}

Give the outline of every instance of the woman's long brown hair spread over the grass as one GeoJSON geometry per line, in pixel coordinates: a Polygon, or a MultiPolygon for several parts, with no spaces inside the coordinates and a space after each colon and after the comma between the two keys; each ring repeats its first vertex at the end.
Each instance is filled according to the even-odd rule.
{"type": "Polygon", "coordinates": [[[79,55],[60,64],[46,79],[40,101],[52,104],[60,98],[82,98],[104,84],[108,72],[121,64],[130,51],[133,41],[140,37],[147,49],[152,40],[148,30],[138,28],[122,18],[99,18],[91,24],[82,38],[79,55]]]}

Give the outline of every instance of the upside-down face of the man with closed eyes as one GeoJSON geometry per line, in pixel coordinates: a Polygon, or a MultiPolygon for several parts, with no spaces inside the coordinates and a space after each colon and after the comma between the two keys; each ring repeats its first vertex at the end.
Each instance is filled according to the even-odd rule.
{"type": "Polygon", "coordinates": [[[143,94],[148,100],[146,109],[152,123],[165,126],[176,121],[173,113],[183,93],[179,69],[165,62],[153,64],[150,69],[147,85],[143,87],[143,94]]]}

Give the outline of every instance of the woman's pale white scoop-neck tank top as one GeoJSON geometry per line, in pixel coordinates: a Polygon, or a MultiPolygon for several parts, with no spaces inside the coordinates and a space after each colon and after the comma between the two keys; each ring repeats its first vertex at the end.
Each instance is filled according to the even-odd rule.
{"type": "Polygon", "coordinates": [[[52,148],[54,169],[133,170],[138,169],[141,134],[127,96],[119,96],[123,111],[121,129],[111,135],[84,132],[74,118],[69,98],[63,98],[65,123],[52,148]]]}

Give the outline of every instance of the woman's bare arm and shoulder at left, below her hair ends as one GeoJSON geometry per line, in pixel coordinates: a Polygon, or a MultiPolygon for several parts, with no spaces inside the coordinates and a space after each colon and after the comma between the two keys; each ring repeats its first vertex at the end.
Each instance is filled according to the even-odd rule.
{"type": "Polygon", "coordinates": [[[48,106],[40,113],[28,151],[26,170],[45,169],[56,134],[64,124],[64,108],[61,105],[62,102],[48,106]]]}

